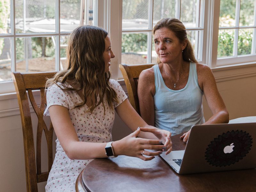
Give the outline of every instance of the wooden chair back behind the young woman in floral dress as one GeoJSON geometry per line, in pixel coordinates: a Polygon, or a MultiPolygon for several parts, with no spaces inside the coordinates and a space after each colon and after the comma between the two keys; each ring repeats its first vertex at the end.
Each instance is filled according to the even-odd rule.
{"type": "Polygon", "coordinates": [[[25,153],[25,169],[27,191],[38,191],[37,183],[47,181],[49,172],[52,167],[52,137],[53,127],[50,123],[49,130],[44,122],[43,113],[46,106],[45,83],[47,78],[52,78],[56,72],[43,73],[20,73],[13,72],[13,82],[17,93],[17,98],[20,107],[20,117],[23,131],[24,153],[25,153]],[[40,90],[41,103],[36,104],[32,90],[40,90]],[[28,96],[27,96],[28,92],[28,96]],[[37,133],[36,133],[36,156],[34,147],[33,127],[29,108],[28,97],[31,105],[38,118],[37,133]],[[48,171],[41,171],[41,140],[42,133],[45,133],[48,151],[48,171]]]}

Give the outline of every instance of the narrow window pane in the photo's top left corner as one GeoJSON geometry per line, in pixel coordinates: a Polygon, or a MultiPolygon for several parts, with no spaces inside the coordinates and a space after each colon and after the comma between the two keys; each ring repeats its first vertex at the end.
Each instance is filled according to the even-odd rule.
{"type": "Polygon", "coordinates": [[[0,2],[0,34],[10,33],[10,1],[0,2]]]}

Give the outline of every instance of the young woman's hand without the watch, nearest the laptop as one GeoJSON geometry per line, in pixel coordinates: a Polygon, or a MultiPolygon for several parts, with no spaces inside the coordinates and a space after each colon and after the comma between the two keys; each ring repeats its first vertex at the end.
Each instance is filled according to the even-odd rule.
{"type": "Polygon", "coordinates": [[[164,144],[163,151],[166,151],[166,155],[168,155],[172,151],[172,133],[163,129],[158,129],[156,127],[140,127],[140,130],[143,132],[151,132],[153,133],[159,140],[161,140],[164,144]]]}

